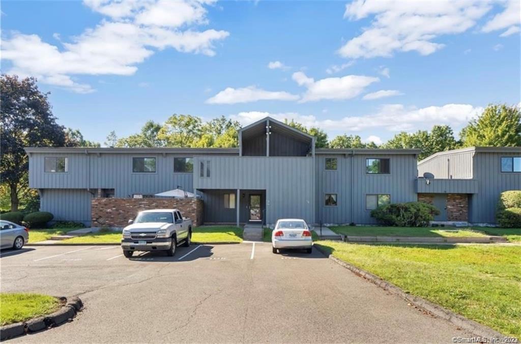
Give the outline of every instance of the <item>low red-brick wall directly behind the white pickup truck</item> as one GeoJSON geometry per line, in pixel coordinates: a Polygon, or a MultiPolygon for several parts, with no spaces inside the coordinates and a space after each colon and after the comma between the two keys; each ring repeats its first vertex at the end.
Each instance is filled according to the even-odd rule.
{"type": "Polygon", "coordinates": [[[203,201],[162,198],[93,198],[92,227],[125,227],[138,212],[150,209],[178,209],[183,217],[192,219],[194,227],[203,223],[203,201]]]}

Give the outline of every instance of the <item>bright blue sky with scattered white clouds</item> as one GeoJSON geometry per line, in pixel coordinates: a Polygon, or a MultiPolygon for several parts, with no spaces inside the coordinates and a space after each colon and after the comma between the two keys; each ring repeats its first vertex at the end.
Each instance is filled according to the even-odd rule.
{"type": "Polygon", "coordinates": [[[377,144],[520,103],[520,1],[3,1],[3,73],[103,143],[172,114],[377,144]]]}

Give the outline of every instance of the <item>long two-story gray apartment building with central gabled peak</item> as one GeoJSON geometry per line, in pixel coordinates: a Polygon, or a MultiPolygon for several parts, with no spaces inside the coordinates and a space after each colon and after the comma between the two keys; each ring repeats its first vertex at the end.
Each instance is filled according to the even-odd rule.
{"type": "Polygon", "coordinates": [[[375,224],[377,206],[418,199],[438,206],[440,221],[494,223],[499,193],[521,189],[521,148],[460,151],[418,164],[419,150],[315,149],[314,137],[269,117],[240,129],[232,149],[26,149],[41,210],[86,225],[100,199],[147,200],[176,188],[197,195],[205,224],[375,224]]]}

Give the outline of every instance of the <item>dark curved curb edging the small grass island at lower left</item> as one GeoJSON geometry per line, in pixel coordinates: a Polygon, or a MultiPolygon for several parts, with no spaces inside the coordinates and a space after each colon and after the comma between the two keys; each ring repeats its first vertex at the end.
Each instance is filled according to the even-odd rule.
{"type": "Polygon", "coordinates": [[[67,321],[72,321],[72,318],[75,317],[83,307],[83,302],[81,302],[78,297],[72,297],[70,299],[59,297],[58,299],[64,302],[65,305],[54,313],[39,316],[21,323],[2,326],[0,328],[0,340],[34,333],[46,328],[59,326],[67,321]]]}

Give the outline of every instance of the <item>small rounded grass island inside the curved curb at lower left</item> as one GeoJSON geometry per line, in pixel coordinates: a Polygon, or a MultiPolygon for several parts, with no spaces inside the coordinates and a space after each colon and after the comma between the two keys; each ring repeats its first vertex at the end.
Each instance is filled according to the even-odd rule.
{"type": "Polygon", "coordinates": [[[59,309],[55,297],[32,293],[0,293],[0,304],[2,325],[30,320],[59,309]]]}

